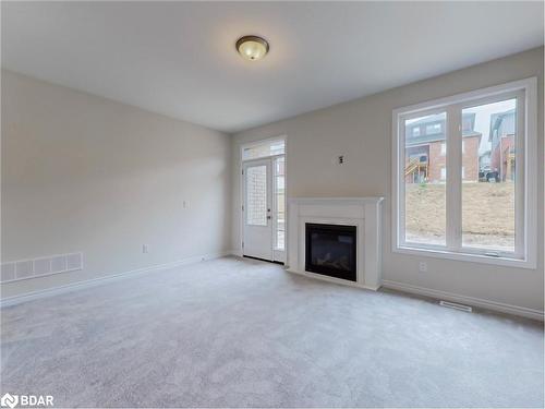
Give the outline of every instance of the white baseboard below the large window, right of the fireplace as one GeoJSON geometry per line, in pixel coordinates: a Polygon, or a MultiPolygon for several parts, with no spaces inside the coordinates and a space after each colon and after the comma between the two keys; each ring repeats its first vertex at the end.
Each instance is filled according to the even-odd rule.
{"type": "Polygon", "coordinates": [[[484,300],[475,297],[461,296],[452,292],[434,290],[431,288],[417,287],[399,281],[383,280],[383,287],[390,288],[392,290],[410,292],[419,296],[431,297],[439,300],[452,301],[471,306],[477,306],[484,310],[492,310],[492,311],[502,312],[506,314],[523,316],[526,318],[533,318],[538,321],[543,321],[544,318],[543,311],[540,310],[506,304],[497,301],[484,300]]]}

